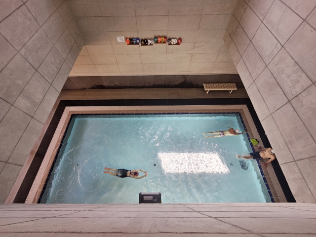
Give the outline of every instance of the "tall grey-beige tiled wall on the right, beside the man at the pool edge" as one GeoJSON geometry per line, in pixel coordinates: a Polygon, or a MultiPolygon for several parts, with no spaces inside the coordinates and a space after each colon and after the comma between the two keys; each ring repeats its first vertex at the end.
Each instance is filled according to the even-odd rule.
{"type": "Polygon", "coordinates": [[[224,37],[299,202],[316,202],[316,0],[239,0],[224,37]]]}

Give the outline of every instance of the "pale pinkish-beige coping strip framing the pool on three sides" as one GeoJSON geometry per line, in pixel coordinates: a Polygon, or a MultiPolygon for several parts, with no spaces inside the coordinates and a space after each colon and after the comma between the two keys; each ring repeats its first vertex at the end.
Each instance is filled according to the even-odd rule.
{"type": "MultiPolygon", "coordinates": [[[[251,118],[246,105],[193,105],[193,106],[94,106],[94,107],[66,107],[59,121],[54,136],[49,144],[45,157],[40,165],[38,174],[33,182],[32,188],[25,203],[37,203],[50,168],[57,154],[67,125],[72,115],[76,114],[151,114],[151,113],[240,113],[249,136],[257,138],[263,147],[259,133],[251,118]]],[[[258,151],[258,147],[254,146],[258,151]]],[[[262,162],[262,161],[260,161],[262,162]]],[[[286,201],[281,187],[277,181],[276,174],[271,163],[268,168],[262,165],[265,178],[276,202],[286,201]]]]}

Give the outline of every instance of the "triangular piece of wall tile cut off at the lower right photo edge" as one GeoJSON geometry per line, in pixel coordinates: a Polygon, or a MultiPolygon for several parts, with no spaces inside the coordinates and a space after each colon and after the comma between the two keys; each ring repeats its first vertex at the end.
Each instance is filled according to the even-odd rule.
{"type": "Polygon", "coordinates": [[[316,197],[316,158],[309,158],[297,161],[299,169],[306,180],[307,185],[310,187],[312,194],[316,197]]]}

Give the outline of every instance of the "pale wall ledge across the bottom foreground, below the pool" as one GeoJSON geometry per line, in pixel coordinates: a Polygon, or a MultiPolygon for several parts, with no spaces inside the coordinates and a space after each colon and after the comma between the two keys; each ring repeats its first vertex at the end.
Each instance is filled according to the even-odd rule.
{"type": "Polygon", "coordinates": [[[309,203],[9,204],[0,210],[0,237],[316,236],[316,204],[309,203]]]}

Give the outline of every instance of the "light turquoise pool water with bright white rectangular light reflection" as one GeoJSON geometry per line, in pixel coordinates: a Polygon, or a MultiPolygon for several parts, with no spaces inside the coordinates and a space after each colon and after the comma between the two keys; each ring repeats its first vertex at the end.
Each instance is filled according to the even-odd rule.
{"type": "Polygon", "coordinates": [[[246,134],[203,137],[228,127],[244,130],[239,114],[73,116],[40,202],[138,203],[140,192],[162,203],[271,202],[256,160],[236,158],[252,152],[246,134]]]}

